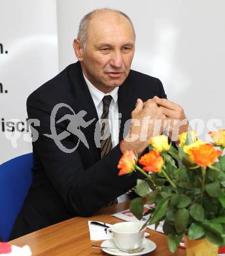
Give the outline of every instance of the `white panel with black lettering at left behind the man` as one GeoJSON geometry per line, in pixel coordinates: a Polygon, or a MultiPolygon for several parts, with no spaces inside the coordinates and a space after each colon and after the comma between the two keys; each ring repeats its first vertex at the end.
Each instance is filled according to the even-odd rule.
{"type": "Polygon", "coordinates": [[[0,0],[0,44],[1,165],[32,151],[21,123],[27,118],[27,96],[58,74],[56,1],[0,0]]]}

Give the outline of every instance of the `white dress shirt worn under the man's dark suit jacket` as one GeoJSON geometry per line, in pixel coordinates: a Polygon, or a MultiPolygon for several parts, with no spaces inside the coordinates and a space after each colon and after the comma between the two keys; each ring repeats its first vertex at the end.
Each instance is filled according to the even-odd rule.
{"type": "MultiPolygon", "coordinates": [[[[83,74],[84,75],[84,74],[83,74]]],[[[101,119],[101,115],[103,113],[103,97],[107,95],[112,96],[111,104],[109,106],[109,127],[112,138],[112,148],[116,146],[119,142],[119,115],[118,115],[118,89],[119,87],[115,87],[110,93],[103,93],[99,91],[84,75],[84,79],[86,84],[88,85],[88,89],[90,94],[92,95],[92,99],[95,104],[95,108],[97,110],[97,116],[99,117],[99,122],[101,119]]],[[[128,194],[123,194],[117,198],[118,203],[125,202],[126,200],[130,200],[128,194]]]]}

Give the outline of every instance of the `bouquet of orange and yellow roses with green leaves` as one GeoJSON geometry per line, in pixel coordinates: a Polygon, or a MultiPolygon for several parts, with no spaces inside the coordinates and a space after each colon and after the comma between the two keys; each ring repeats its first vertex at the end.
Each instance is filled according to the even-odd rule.
{"type": "Polygon", "coordinates": [[[145,176],[137,180],[139,197],[130,209],[137,219],[150,214],[145,226],[164,221],[171,252],[183,236],[225,245],[225,130],[209,135],[213,143],[198,140],[194,131],[182,133],[177,148],[165,135],[152,137],[147,154],[138,159],[128,150],[118,163],[118,175],[140,171],[145,176]],[[144,213],[145,203],[155,207],[144,213]]]}

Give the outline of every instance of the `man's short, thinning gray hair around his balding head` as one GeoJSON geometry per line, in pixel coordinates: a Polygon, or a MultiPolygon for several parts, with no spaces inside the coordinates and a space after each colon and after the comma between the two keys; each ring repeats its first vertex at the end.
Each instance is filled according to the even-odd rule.
{"type": "MultiPolygon", "coordinates": [[[[104,8],[104,9],[96,9],[96,10],[94,10],[92,12],[88,12],[88,14],[86,14],[82,18],[82,20],[80,20],[79,30],[78,30],[78,35],[77,35],[77,39],[79,39],[79,41],[82,44],[82,47],[84,49],[85,49],[85,46],[86,46],[86,40],[88,39],[88,25],[89,25],[89,22],[90,22],[90,20],[92,20],[95,12],[102,11],[102,10],[112,11],[112,12],[116,12],[118,14],[121,14],[122,16],[124,16],[125,18],[127,18],[130,21],[131,27],[133,28],[133,23],[131,22],[130,17],[127,14],[125,14],[124,12],[122,12],[122,11],[104,8]]],[[[133,33],[134,33],[134,36],[135,36],[134,28],[133,28],[133,33]]]]}

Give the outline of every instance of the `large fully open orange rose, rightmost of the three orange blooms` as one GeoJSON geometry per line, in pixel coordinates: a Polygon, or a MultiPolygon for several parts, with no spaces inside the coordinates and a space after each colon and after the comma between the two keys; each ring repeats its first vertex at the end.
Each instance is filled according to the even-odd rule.
{"type": "Polygon", "coordinates": [[[213,165],[222,154],[220,150],[215,150],[214,146],[209,143],[202,144],[198,148],[191,148],[190,150],[192,151],[194,161],[201,167],[213,165]]]}

